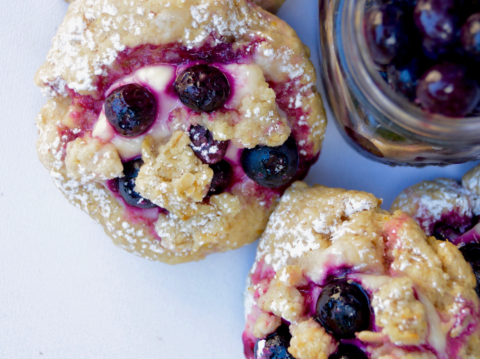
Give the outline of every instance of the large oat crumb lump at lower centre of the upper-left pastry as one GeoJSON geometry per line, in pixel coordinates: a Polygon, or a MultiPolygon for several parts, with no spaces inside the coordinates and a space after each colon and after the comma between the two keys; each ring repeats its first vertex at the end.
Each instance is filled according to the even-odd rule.
{"type": "Polygon", "coordinates": [[[199,210],[208,192],[213,171],[195,156],[189,136],[176,131],[167,144],[157,148],[150,136],[142,143],[142,159],[135,191],[167,209],[181,220],[199,210]]]}

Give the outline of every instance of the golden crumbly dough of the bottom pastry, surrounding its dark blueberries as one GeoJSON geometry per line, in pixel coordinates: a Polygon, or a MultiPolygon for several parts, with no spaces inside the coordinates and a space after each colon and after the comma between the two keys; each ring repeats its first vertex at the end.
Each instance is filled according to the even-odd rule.
{"type": "MultiPolygon", "coordinates": [[[[456,246],[427,237],[415,220],[401,211],[386,212],[380,203],[366,192],[293,183],[260,239],[248,320],[271,311],[295,324],[297,336],[308,337],[307,324],[305,333],[298,333],[312,315],[299,290],[305,281],[288,278],[322,287],[331,270],[348,268],[348,280],[371,295],[378,329],[357,334],[371,358],[435,358],[422,353],[424,345],[439,358],[478,358],[480,301],[470,265],[456,246]]],[[[330,354],[320,352],[314,357],[330,354]]],[[[309,353],[300,355],[311,358],[309,353]]]]}

